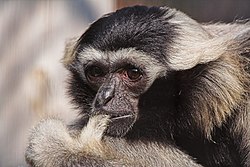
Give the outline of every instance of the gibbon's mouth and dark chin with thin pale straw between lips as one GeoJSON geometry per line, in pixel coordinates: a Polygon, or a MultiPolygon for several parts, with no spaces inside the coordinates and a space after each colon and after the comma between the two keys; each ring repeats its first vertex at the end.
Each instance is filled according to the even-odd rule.
{"type": "Polygon", "coordinates": [[[133,114],[111,116],[106,134],[113,137],[122,137],[132,128],[135,121],[136,116],[133,114]]]}

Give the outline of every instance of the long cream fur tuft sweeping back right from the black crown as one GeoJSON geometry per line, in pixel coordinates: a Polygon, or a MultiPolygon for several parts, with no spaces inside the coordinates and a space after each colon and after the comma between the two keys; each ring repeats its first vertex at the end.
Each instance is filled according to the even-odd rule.
{"type": "Polygon", "coordinates": [[[202,26],[194,20],[189,20],[178,24],[179,35],[174,41],[169,59],[170,68],[173,70],[191,69],[197,64],[215,61],[223,55],[250,52],[250,22],[202,26]]]}

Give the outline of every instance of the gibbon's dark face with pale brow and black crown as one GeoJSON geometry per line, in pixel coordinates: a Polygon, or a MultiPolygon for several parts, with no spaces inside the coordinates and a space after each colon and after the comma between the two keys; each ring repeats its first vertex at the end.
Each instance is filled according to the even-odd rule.
{"type": "Polygon", "coordinates": [[[107,134],[123,136],[138,119],[140,96],[166,75],[177,36],[175,10],[128,7],[103,16],[65,57],[73,102],[90,117],[107,114],[107,134]]]}

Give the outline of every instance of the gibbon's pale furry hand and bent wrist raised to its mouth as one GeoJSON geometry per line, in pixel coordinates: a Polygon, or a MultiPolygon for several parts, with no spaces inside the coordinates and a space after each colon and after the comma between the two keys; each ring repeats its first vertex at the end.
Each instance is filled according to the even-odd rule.
{"type": "Polygon", "coordinates": [[[31,166],[41,167],[94,164],[91,157],[103,156],[104,153],[101,138],[107,122],[108,116],[95,116],[79,136],[71,136],[61,120],[44,119],[31,131],[26,161],[31,166]]]}

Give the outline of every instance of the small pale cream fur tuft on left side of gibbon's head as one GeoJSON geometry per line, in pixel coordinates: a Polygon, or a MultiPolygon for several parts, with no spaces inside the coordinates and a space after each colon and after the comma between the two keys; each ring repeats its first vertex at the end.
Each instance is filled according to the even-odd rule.
{"type": "Polygon", "coordinates": [[[62,63],[67,69],[70,68],[70,64],[75,58],[78,39],[79,37],[77,36],[77,37],[66,40],[64,57],[62,58],[62,63]]]}

